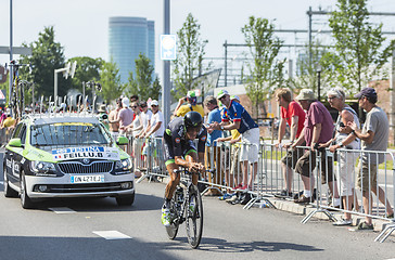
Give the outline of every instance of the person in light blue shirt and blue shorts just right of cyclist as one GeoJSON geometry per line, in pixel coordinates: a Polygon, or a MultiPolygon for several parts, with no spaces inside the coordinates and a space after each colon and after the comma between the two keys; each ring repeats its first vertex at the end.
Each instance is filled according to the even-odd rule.
{"type": "MultiPolygon", "coordinates": [[[[207,125],[213,123],[214,121],[221,122],[221,114],[218,107],[217,99],[213,95],[208,95],[204,100],[204,105],[209,110],[207,116],[207,125]]],[[[224,178],[221,177],[220,169],[220,147],[217,145],[217,139],[222,136],[222,132],[219,130],[214,130],[213,132],[207,134],[206,146],[212,146],[213,148],[206,148],[206,166],[211,169],[215,169],[214,180],[212,180],[212,174],[208,174],[208,181],[211,183],[221,185],[224,178]],[[212,161],[214,162],[212,165],[212,161]]],[[[220,195],[217,190],[209,190],[206,195],[220,195]]]]}

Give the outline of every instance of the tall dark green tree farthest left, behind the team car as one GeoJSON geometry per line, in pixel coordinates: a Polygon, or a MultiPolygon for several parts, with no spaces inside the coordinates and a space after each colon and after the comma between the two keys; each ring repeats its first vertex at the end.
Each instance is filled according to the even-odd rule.
{"type": "MultiPolygon", "coordinates": [[[[31,55],[23,55],[21,57],[21,63],[31,64],[33,68],[31,74],[28,73],[28,68],[21,68],[20,77],[35,82],[36,96],[53,96],[53,73],[55,69],[65,66],[63,47],[61,43],[55,42],[53,26],[44,27],[43,31],[39,32],[37,41],[31,42],[28,46],[23,46],[31,48],[31,55]]],[[[67,82],[62,76],[58,77],[58,93],[60,96],[65,95],[69,88],[69,81],[67,82]]]]}

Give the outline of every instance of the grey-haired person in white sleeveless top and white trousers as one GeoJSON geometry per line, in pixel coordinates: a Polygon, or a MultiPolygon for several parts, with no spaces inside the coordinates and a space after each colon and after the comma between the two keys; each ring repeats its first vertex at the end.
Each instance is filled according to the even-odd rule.
{"type": "MultiPolygon", "coordinates": [[[[328,92],[328,102],[331,107],[339,110],[339,117],[335,125],[335,135],[333,139],[322,145],[329,147],[330,152],[335,153],[337,148],[345,147],[346,150],[359,150],[360,141],[352,133],[352,129],[347,127],[348,122],[355,122],[359,126],[357,113],[345,104],[345,93],[341,88],[331,89],[328,92]]],[[[343,199],[345,209],[353,210],[353,203],[358,208],[358,200],[354,200],[354,179],[355,179],[355,164],[357,155],[352,152],[340,152],[339,168],[336,171],[336,179],[339,180],[340,196],[343,199]]],[[[353,223],[352,214],[344,212],[344,218],[333,222],[333,225],[351,225],[353,223]]]]}

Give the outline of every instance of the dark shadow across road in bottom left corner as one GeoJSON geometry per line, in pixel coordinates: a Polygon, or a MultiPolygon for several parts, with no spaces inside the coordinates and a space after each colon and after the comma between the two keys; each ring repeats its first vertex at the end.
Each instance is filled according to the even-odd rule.
{"type": "Polygon", "coordinates": [[[0,245],[1,259],[178,259],[167,253],[158,243],[137,238],[0,236],[0,245]]]}

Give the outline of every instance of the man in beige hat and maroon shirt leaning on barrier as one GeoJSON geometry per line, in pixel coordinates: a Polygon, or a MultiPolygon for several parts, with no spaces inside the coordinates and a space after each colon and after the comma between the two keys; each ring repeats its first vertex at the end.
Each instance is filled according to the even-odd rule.
{"type": "MultiPolygon", "coordinates": [[[[327,143],[332,139],[333,120],[331,114],[329,114],[329,110],[321,102],[317,101],[313,90],[301,90],[301,93],[296,96],[296,100],[301,103],[303,109],[307,110],[307,114],[304,122],[304,129],[297,141],[293,143],[291,147],[295,148],[306,141],[306,145],[310,146],[310,150],[306,151],[304,155],[302,155],[302,157],[296,161],[295,171],[302,177],[304,192],[303,195],[301,195],[298,198],[295,198],[294,202],[296,204],[308,204],[314,202],[311,188],[314,187],[313,170],[316,168],[316,145],[320,143],[327,143]]],[[[334,197],[332,206],[340,206],[337,186],[335,183],[335,178],[333,177],[332,165],[333,162],[331,157],[328,157],[327,165],[327,156],[324,154],[321,155],[321,182],[322,184],[328,182],[329,188],[334,197]]]]}

